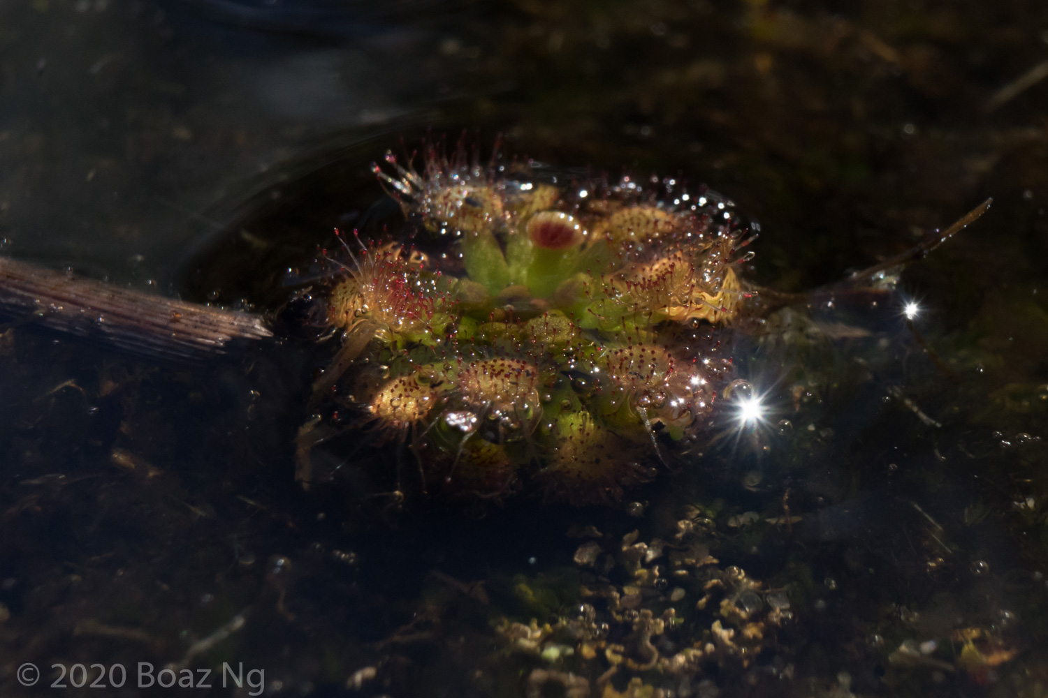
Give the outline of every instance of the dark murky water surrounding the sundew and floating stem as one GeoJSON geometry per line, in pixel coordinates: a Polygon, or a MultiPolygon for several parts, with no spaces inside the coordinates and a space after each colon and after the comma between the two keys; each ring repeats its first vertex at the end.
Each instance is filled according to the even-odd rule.
{"type": "Polygon", "coordinates": [[[383,212],[370,163],[431,129],[705,182],[761,222],[750,278],[785,291],[995,199],[875,307],[734,336],[769,428],[621,509],[400,508],[352,436],[327,451],[337,486],[303,492],[329,346],[187,368],[6,323],[0,694],[122,663],[121,689],[64,691],[1044,695],[1046,60],[1048,9],[1025,2],[0,5],[3,252],[193,300],[276,308],[332,227],[383,212]],[[656,539],[676,553],[637,577],[631,546],[656,539]],[[573,561],[588,540],[595,568],[573,561]],[[682,551],[717,562],[674,577],[682,551]],[[763,624],[749,653],[714,643],[715,622],[741,643],[733,606],[763,624]],[[510,624],[531,618],[529,645],[510,624]],[[213,688],[139,689],[138,662],[213,688]]]}

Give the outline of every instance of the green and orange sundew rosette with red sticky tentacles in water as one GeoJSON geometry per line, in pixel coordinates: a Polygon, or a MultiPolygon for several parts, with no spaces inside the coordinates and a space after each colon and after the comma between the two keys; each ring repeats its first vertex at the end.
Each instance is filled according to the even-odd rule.
{"type": "Polygon", "coordinates": [[[319,385],[401,440],[428,492],[613,503],[701,438],[734,378],[717,327],[752,294],[729,202],[461,149],[375,173],[406,230],[340,261],[319,385]]]}

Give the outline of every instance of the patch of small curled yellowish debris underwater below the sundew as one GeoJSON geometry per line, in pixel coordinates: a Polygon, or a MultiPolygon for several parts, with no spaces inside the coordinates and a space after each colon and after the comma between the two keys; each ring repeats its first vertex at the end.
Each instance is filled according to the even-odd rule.
{"type": "MultiPolygon", "coordinates": [[[[577,695],[663,695],[674,681],[712,668],[750,668],[776,647],[778,628],[792,620],[785,590],[768,589],[739,567],[721,567],[694,526],[679,526],[670,541],[637,539],[633,532],[614,544],[580,546],[574,559],[586,571],[573,614],[544,624],[503,621],[500,632],[510,647],[549,667],[536,670],[542,677],[573,677],[577,695]],[[653,671],[668,681],[663,688],[641,681],[639,675],[653,671]],[[593,677],[593,691],[578,685],[580,676],[593,677]]],[[[773,672],[791,673],[784,663],[773,672]]]]}

